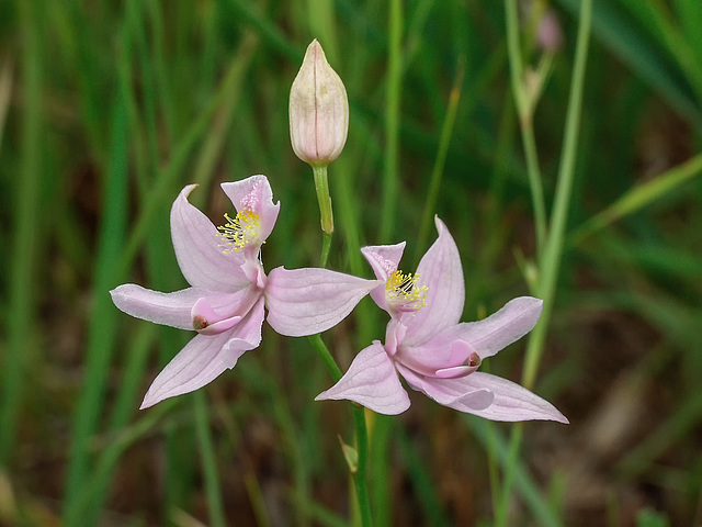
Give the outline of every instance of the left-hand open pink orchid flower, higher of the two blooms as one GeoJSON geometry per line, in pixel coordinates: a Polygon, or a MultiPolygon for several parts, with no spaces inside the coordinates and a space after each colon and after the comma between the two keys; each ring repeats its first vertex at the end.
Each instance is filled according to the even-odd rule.
{"type": "Polygon", "coordinates": [[[260,249],[280,202],[273,204],[265,176],[222,183],[237,210],[222,227],[188,202],[195,187],[185,187],[171,209],[176,257],[191,287],[161,293],[127,283],[111,291],[114,304],[132,316],[197,332],[154,380],[141,408],[197,390],[234,368],[261,343],[264,306],[281,335],[314,335],[337,325],[377,285],[327,269],[279,267],[267,276],[260,249]]]}

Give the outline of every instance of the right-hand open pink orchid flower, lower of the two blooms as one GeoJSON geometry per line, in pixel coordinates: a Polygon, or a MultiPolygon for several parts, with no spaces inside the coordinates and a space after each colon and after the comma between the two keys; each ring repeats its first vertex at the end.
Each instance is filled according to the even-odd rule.
{"type": "Polygon", "coordinates": [[[375,340],[363,349],[316,400],[350,400],[380,414],[400,414],[409,407],[401,375],[412,389],[460,412],[492,421],[568,423],[525,388],[476,371],[483,359],[536,325],[542,301],[522,296],[483,321],[460,323],[465,298],[461,258],[446,226],[438,217],[435,223],[439,238],[415,276],[397,269],[405,243],[361,249],[383,282],[371,296],[390,315],[385,344],[375,340]]]}

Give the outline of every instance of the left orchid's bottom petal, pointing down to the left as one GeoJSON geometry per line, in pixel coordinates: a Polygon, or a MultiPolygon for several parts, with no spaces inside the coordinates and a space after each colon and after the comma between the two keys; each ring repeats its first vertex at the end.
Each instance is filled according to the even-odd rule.
{"type": "Polygon", "coordinates": [[[192,392],[216,379],[228,368],[222,348],[229,338],[228,333],[196,335],[156,377],[139,410],[192,392]]]}

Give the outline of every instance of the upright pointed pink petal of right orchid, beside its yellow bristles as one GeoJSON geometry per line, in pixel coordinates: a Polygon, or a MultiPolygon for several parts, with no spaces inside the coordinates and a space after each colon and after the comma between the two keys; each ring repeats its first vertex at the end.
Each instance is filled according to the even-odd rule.
{"type": "Polygon", "coordinates": [[[427,285],[427,305],[403,321],[407,325],[406,346],[419,346],[445,327],[458,323],[465,290],[463,267],[453,237],[439,217],[434,217],[439,238],[417,268],[417,285],[427,285]]]}

